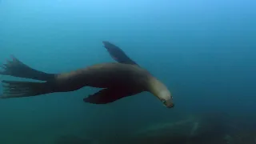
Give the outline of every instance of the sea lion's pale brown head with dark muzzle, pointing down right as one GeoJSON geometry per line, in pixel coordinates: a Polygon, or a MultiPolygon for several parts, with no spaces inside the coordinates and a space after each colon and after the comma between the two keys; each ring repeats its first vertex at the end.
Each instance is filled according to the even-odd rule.
{"type": "Polygon", "coordinates": [[[167,108],[174,107],[174,98],[170,93],[170,90],[168,90],[167,87],[157,78],[150,78],[149,91],[154,94],[154,96],[156,96],[167,108]]]}

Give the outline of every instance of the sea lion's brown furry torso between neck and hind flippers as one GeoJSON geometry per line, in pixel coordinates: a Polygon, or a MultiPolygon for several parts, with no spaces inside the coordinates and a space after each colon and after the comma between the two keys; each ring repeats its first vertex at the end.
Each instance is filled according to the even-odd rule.
{"type": "Polygon", "coordinates": [[[146,82],[150,77],[152,76],[148,71],[138,66],[116,62],[101,63],[68,73],[56,74],[54,80],[49,82],[50,85],[54,85],[50,93],[78,90],[84,86],[129,87],[142,92],[147,89],[146,82]]]}

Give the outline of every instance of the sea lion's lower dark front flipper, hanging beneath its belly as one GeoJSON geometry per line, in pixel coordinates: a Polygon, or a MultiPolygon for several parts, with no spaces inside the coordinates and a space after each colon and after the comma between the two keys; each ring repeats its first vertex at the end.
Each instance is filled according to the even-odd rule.
{"type": "Polygon", "coordinates": [[[137,93],[132,90],[121,90],[118,88],[102,89],[99,90],[97,93],[89,95],[87,98],[84,98],[83,101],[94,104],[106,104],[134,94],[137,93]]]}

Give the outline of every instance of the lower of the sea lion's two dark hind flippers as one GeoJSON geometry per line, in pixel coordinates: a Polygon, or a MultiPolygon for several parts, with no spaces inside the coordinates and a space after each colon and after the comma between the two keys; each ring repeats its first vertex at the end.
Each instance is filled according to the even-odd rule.
{"type": "Polygon", "coordinates": [[[0,98],[21,98],[50,93],[49,82],[2,81],[3,93],[0,98]]]}

